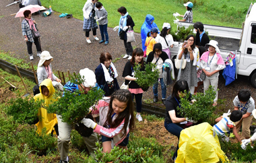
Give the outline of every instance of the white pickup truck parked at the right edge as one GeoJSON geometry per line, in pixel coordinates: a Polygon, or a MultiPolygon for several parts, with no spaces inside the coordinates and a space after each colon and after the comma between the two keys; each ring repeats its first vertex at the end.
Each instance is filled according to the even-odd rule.
{"type": "MultiPolygon", "coordinates": [[[[222,48],[219,42],[220,55],[224,61],[230,51],[236,53],[236,74],[249,76],[249,80],[256,88],[256,3],[250,5],[245,18],[245,24],[242,28],[228,28],[222,26],[204,25],[209,36],[218,36],[221,38],[236,39],[237,48],[222,48]],[[239,42],[240,40],[240,42],[239,42]]],[[[179,26],[188,27],[191,23],[179,22],[179,26]]],[[[172,55],[177,55],[182,42],[174,42],[174,48],[170,48],[172,55]]],[[[237,75],[236,75],[237,77],[237,75]]]]}

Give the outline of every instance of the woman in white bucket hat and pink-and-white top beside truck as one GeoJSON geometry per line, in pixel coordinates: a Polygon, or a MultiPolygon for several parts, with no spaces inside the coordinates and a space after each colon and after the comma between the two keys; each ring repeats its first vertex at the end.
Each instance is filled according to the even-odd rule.
{"type": "Polygon", "coordinates": [[[218,48],[218,42],[216,40],[210,40],[208,44],[205,45],[208,51],[203,53],[200,58],[200,67],[205,73],[205,79],[203,80],[203,92],[208,90],[209,86],[213,86],[216,92],[216,97],[214,98],[214,106],[217,105],[218,100],[218,80],[219,71],[224,69],[225,63],[220,55],[220,50],[218,48]]]}

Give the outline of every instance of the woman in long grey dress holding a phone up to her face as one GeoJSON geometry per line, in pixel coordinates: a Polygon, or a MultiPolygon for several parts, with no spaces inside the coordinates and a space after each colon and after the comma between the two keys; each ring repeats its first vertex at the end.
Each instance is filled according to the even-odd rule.
{"type": "Polygon", "coordinates": [[[178,52],[179,59],[185,58],[187,60],[185,69],[179,70],[181,71],[180,79],[187,81],[191,94],[194,94],[195,87],[197,86],[197,69],[200,66],[199,50],[195,46],[195,37],[193,34],[187,36],[185,40],[187,40],[187,42],[183,43],[178,52]]]}

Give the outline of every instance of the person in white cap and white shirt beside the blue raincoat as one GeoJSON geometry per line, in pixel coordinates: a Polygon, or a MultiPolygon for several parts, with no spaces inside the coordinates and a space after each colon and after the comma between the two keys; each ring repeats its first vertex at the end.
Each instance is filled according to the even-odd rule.
{"type": "Polygon", "coordinates": [[[161,33],[156,36],[156,42],[160,42],[162,44],[162,51],[164,51],[168,55],[168,58],[171,59],[169,47],[173,47],[174,41],[172,35],[168,34],[169,32],[170,24],[164,23],[162,25],[161,33]]]}

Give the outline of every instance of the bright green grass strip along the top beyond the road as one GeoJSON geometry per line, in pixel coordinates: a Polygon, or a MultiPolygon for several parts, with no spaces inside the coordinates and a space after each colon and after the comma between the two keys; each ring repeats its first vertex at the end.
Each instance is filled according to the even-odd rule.
{"type": "MultiPolygon", "coordinates": [[[[249,5],[253,0],[191,0],[194,3],[193,7],[193,22],[203,22],[203,24],[212,24],[217,26],[229,26],[242,28],[242,23],[245,21],[245,15],[249,5]]],[[[45,7],[52,6],[54,11],[59,13],[72,13],[74,18],[83,20],[83,7],[86,1],[79,0],[42,0],[42,5],[45,7]]],[[[135,22],[135,32],[140,32],[140,28],[145,21],[146,15],[154,15],[158,28],[161,29],[164,22],[168,22],[172,26],[172,30],[176,30],[176,25],[173,23],[175,18],[172,13],[178,12],[183,15],[186,11],[183,3],[185,0],[102,0],[100,1],[106,11],[108,11],[108,27],[119,25],[120,14],[117,9],[121,6],[127,8],[127,12],[135,22]]],[[[179,19],[182,19],[179,17],[179,19]]]]}

